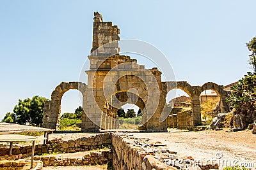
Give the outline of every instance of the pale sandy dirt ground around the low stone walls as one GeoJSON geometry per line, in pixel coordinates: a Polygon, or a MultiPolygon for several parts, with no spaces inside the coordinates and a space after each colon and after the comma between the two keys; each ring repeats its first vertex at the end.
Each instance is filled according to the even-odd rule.
{"type": "MultiPolygon", "coordinates": [[[[150,141],[166,144],[179,157],[193,157],[195,160],[216,160],[220,167],[239,166],[256,168],[256,135],[252,131],[228,132],[200,131],[188,132],[171,130],[161,133],[132,133],[136,138],[150,138],[150,141]]],[[[51,134],[50,139],[76,139],[95,134],[51,134]]],[[[63,169],[63,167],[45,167],[47,169],[63,169]]],[[[104,169],[105,167],[68,167],[68,169],[104,169]]]]}

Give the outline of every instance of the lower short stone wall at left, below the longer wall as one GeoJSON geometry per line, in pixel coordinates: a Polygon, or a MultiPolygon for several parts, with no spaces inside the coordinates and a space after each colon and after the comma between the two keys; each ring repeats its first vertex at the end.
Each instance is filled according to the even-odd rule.
{"type": "Polygon", "coordinates": [[[72,157],[68,155],[47,155],[36,156],[35,160],[41,160],[44,166],[88,166],[88,165],[102,165],[112,162],[112,152],[108,150],[90,151],[83,155],[83,157],[72,157]]]}

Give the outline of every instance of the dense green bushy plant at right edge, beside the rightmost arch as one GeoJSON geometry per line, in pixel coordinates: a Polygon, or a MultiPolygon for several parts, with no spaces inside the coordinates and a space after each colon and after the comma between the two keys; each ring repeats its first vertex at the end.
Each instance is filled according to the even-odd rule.
{"type": "MultiPolygon", "coordinates": [[[[235,108],[237,114],[248,118],[256,116],[256,73],[248,72],[237,85],[231,87],[230,97],[226,99],[230,108],[235,108]]],[[[249,121],[248,123],[252,123],[249,121]]]]}

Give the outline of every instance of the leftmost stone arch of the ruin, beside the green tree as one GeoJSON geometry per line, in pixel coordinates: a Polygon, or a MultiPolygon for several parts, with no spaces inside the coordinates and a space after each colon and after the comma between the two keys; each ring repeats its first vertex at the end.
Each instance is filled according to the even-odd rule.
{"type": "MultiPolygon", "coordinates": [[[[60,126],[61,98],[68,90],[75,89],[81,92],[83,98],[86,96],[87,85],[81,82],[61,82],[52,92],[51,101],[45,101],[43,127],[58,129],[60,126]]],[[[85,113],[83,113],[82,125],[85,113]]]]}

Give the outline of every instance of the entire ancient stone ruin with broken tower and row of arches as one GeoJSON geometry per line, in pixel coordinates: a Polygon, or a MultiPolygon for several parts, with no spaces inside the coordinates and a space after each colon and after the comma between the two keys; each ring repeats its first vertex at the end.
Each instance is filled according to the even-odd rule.
{"type": "Polygon", "coordinates": [[[70,89],[79,90],[83,96],[83,131],[118,129],[117,110],[124,104],[138,106],[142,113],[142,127],[148,132],[166,132],[167,117],[172,108],[166,104],[170,90],[181,89],[191,98],[191,111],[179,113],[178,126],[201,125],[200,94],[214,90],[220,97],[220,111],[227,113],[227,91],[223,85],[208,82],[191,86],[186,81],[161,81],[161,71],[156,67],[145,69],[136,59],[120,55],[118,34],[120,29],[112,22],[104,22],[95,12],[93,42],[88,74],[88,85],[83,82],[62,82],[54,89],[51,101],[45,101],[43,127],[58,129],[60,126],[61,97],[70,89]],[[167,116],[166,116],[167,115],[167,116]]]}

